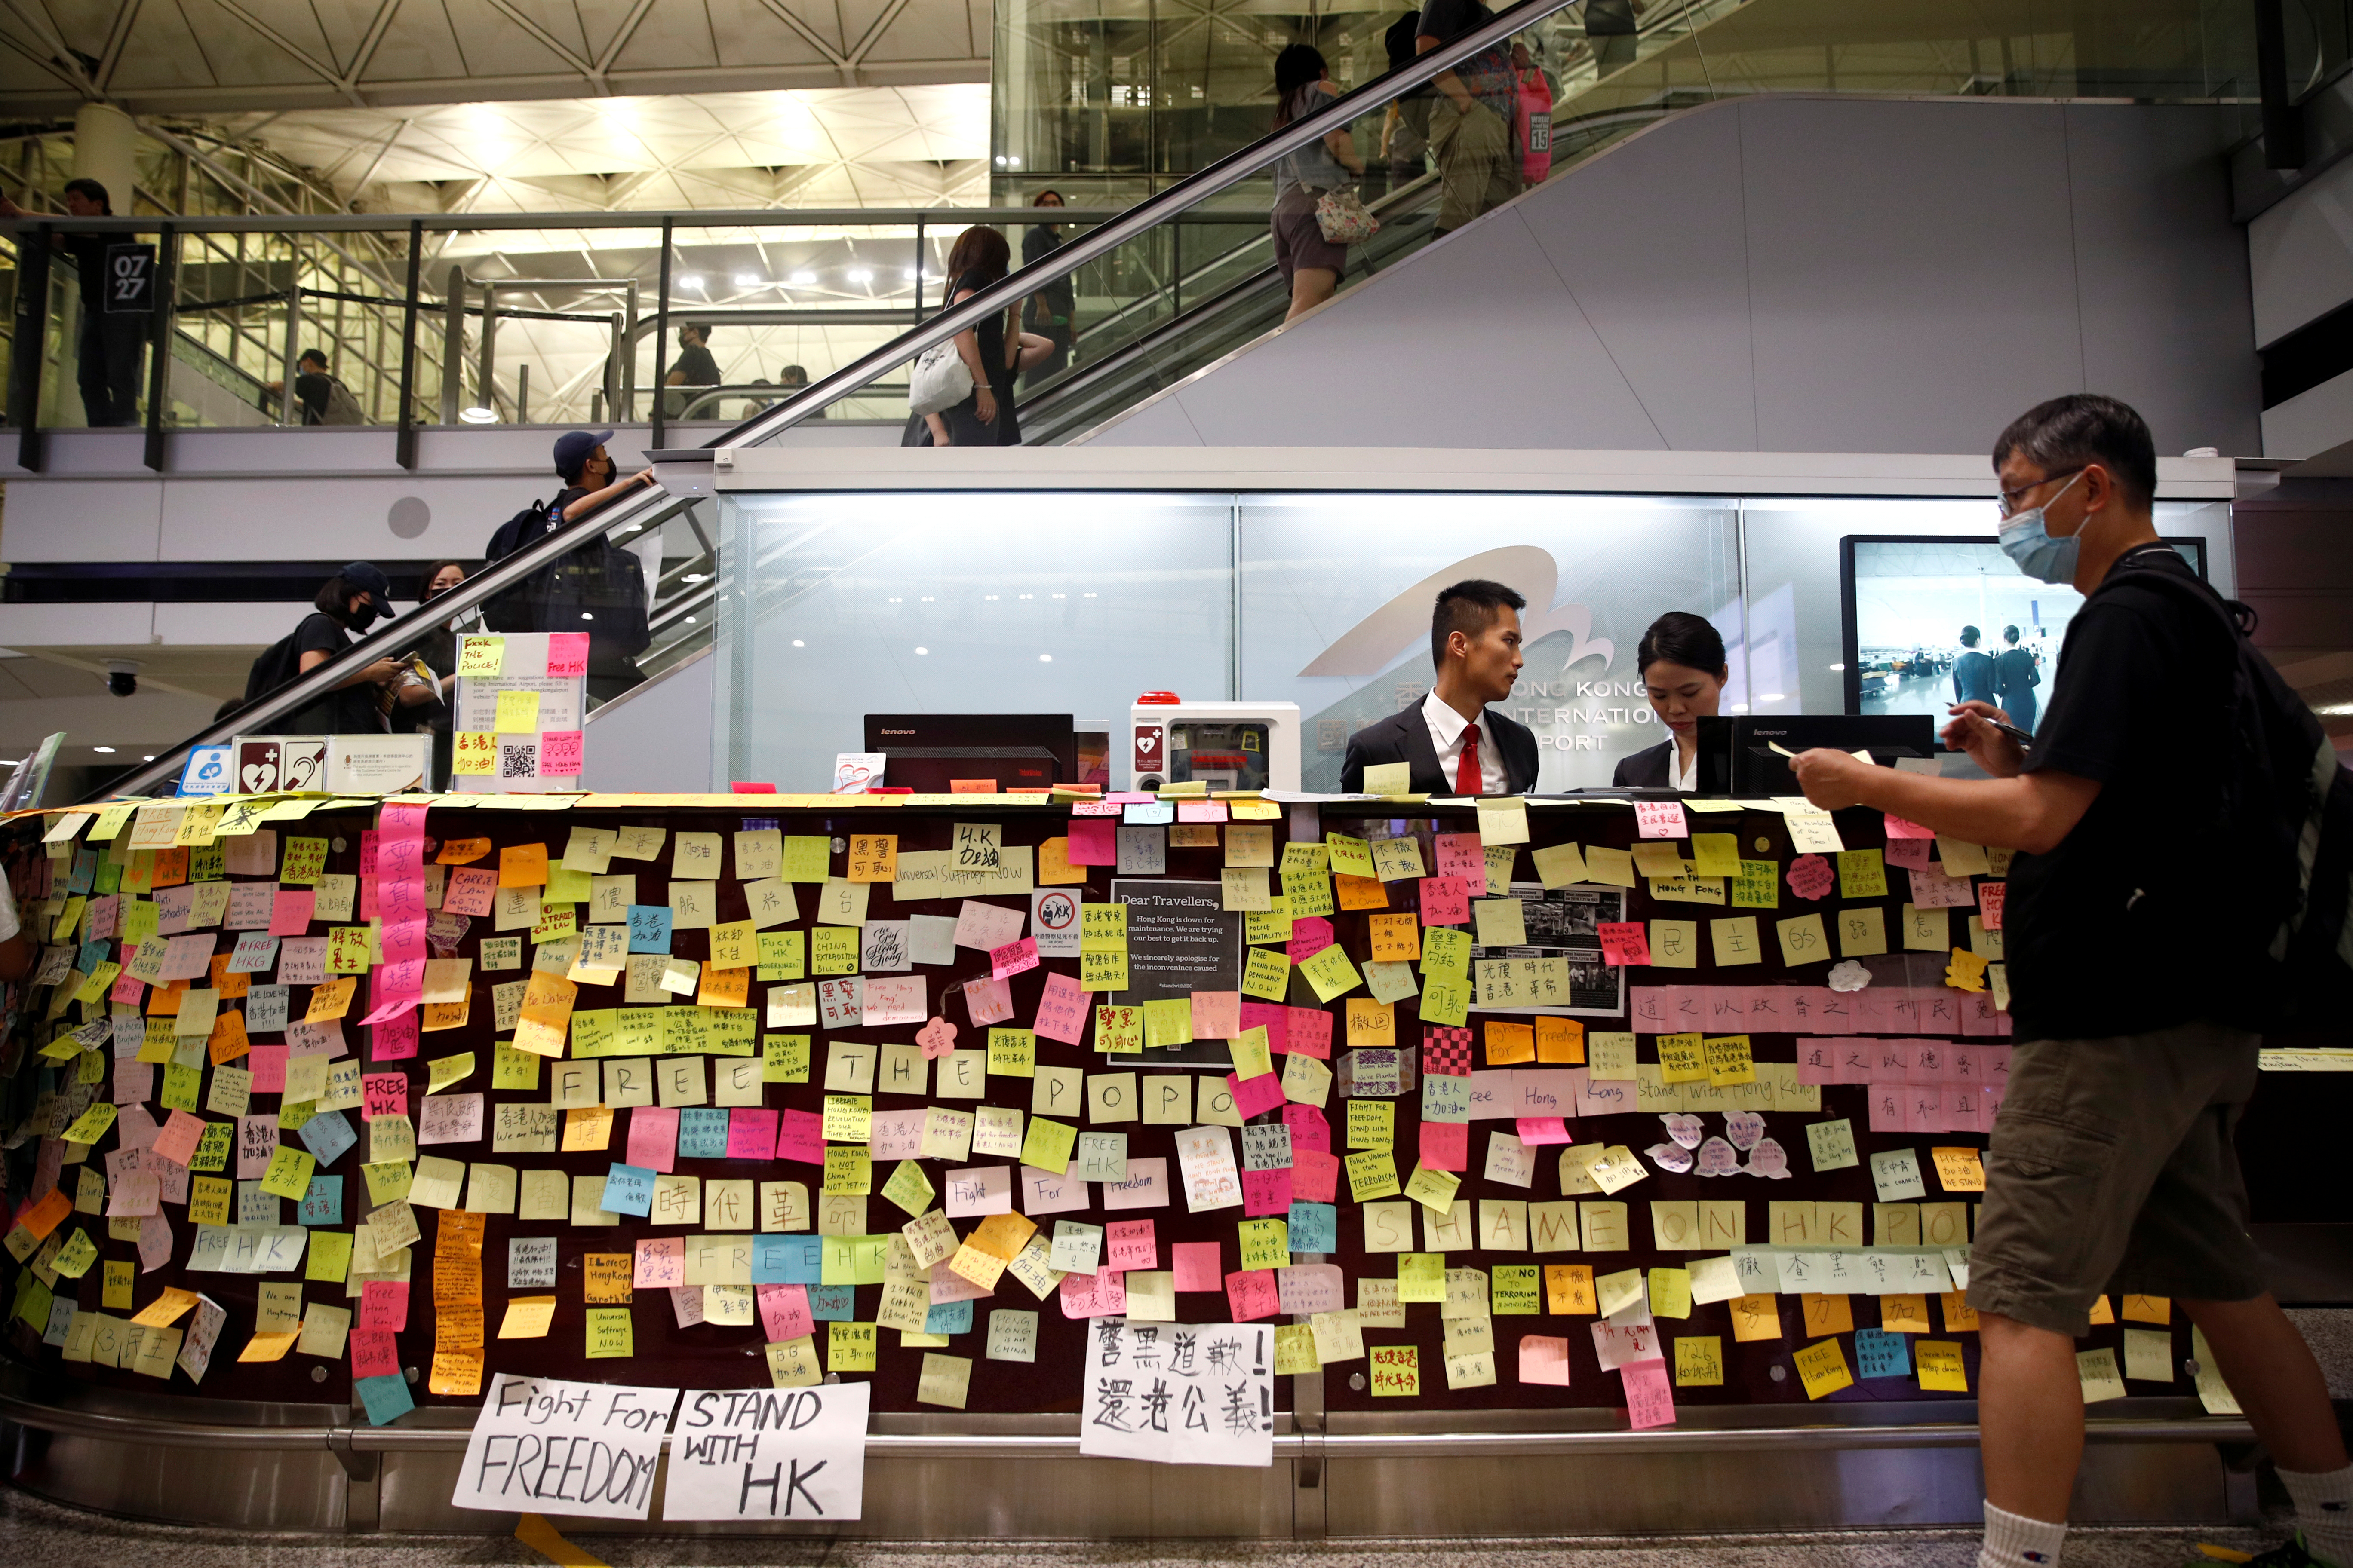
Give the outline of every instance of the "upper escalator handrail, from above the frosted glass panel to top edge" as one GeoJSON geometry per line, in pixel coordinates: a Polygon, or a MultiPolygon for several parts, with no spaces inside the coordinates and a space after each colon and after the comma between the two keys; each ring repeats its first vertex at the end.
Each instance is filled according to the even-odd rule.
{"type": "MultiPolygon", "coordinates": [[[[1191,207],[1198,207],[1219,190],[1238,186],[1252,174],[1259,174],[1278,158],[1287,158],[1289,153],[1297,153],[1299,148],[1311,146],[1313,141],[1320,141],[1332,132],[1348,129],[1367,110],[1381,108],[1384,103],[1405,96],[1414,87],[1438,80],[1454,66],[1471,59],[1473,54],[1482,54],[1485,49],[1492,49],[1494,45],[1511,40],[1513,33],[1520,33],[1529,24],[1541,21],[1553,12],[1565,9],[1574,2],[1577,0],[1520,0],[1518,5],[1504,7],[1489,21],[1471,28],[1461,38],[1442,42],[1428,54],[1412,59],[1388,71],[1386,75],[1377,75],[1362,87],[1344,92],[1341,96],[1332,99],[1315,113],[1301,120],[1292,120],[1289,125],[1268,132],[1266,136],[1259,136],[1249,146],[1219,158],[1207,169],[1184,176],[1181,181],[1176,181],[1167,190],[1160,190],[1158,195],[1144,197],[1141,202],[1136,202],[1120,216],[1111,219],[1108,223],[1101,223],[1087,230],[1085,235],[1064,242],[1049,256],[1040,256],[1038,261],[1024,268],[1009,270],[993,284],[976,289],[972,299],[967,299],[965,303],[946,306],[939,315],[922,322],[920,327],[901,331],[889,343],[882,343],[880,348],[852,360],[842,369],[809,383],[809,388],[802,390],[798,397],[781,402],[774,409],[753,414],[732,430],[711,437],[708,442],[704,442],[704,447],[708,449],[755,447],[760,442],[774,440],[776,435],[784,435],[786,430],[809,418],[819,409],[826,409],[840,402],[842,397],[849,397],[852,393],[861,390],[868,381],[878,381],[885,371],[906,364],[922,350],[936,343],[946,343],[967,327],[976,327],[986,322],[991,315],[1012,308],[1028,294],[1035,294],[1042,284],[1059,282],[1061,277],[1068,277],[1089,261],[1108,256],[1111,252],[1127,244],[1136,235],[1144,235],[1151,228],[1160,226],[1165,219],[1179,212],[1188,212],[1191,207]]],[[[953,289],[955,284],[951,282],[948,287],[953,289]]]]}

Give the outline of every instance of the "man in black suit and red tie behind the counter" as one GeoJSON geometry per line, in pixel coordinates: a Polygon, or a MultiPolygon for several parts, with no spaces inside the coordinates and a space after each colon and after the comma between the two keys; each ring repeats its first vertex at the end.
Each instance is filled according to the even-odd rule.
{"type": "Polygon", "coordinates": [[[1520,679],[1520,611],[1511,588],[1471,578],[1438,595],[1431,658],[1438,684],[1419,705],[1348,738],[1339,788],[1355,795],[1365,769],[1407,762],[1414,795],[1527,795],[1537,788],[1537,736],[1487,703],[1520,679]]]}

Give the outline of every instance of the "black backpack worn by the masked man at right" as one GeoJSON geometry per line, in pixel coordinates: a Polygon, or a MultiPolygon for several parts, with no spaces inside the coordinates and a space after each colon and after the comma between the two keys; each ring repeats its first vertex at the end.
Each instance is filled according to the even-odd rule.
{"type": "Polygon", "coordinates": [[[2353,1001],[2353,776],[2294,686],[2247,639],[2254,611],[2198,578],[2127,569],[2122,581],[2200,607],[2238,649],[2209,827],[2217,919],[2249,936],[2245,990],[2264,1025],[2311,1027],[2353,1001]]]}

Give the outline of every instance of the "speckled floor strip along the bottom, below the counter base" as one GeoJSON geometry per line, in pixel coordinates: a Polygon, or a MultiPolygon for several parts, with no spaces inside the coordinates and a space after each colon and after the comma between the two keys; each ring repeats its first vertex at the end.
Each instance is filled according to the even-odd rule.
{"type": "MultiPolygon", "coordinates": [[[[1527,1542],[1334,1542],[1325,1547],[1249,1542],[840,1542],[699,1540],[569,1533],[572,1544],[612,1568],[1969,1568],[1977,1537],[1958,1530],[1873,1530],[1835,1535],[1751,1535],[1689,1540],[1527,1540],[1527,1542]]],[[[2186,1563],[2200,1540],[2235,1549],[2268,1544],[2249,1530],[2078,1530],[2068,1568],[2186,1563]]],[[[471,1568],[546,1563],[501,1535],[259,1535],[176,1530],[80,1514],[0,1488],[0,1563],[45,1568],[471,1568]]]]}

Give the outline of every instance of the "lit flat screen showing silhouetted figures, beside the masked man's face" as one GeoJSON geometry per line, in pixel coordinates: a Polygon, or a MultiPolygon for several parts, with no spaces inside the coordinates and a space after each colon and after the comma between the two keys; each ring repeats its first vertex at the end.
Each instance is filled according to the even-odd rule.
{"type": "MultiPolygon", "coordinates": [[[[1847,712],[1920,712],[1944,719],[1984,698],[2035,729],[2059,672],[2073,588],[2021,574],[1991,538],[1847,536],[1847,712]]],[[[2205,578],[2205,541],[2167,538],[2205,578]]]]}

